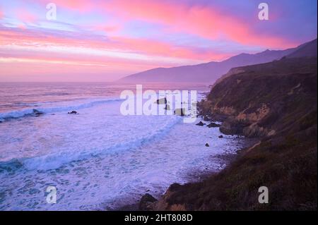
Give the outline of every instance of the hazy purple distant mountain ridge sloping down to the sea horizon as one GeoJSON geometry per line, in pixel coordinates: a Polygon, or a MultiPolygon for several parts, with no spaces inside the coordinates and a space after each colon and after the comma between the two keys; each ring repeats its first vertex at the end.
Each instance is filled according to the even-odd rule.
{"type": "MultiPolygon", "coordinates": [[[[313,41],[314,42],[314,41],[313,41]]],[[[311,42],[309,42],[311,43],[311,42]]],[[[308,44],[308,43],[306,43],[308,44]]],[[[305,47],[306,44],[300,45],[305,47]]],[[[317,48],[317,39],[316,39],[317,48]]],[[[153,68],[141,73],[135,73],[122,78],[119,81],[128,83],[143,82],[172,82],[172,83],[214,83],[221,75],[227,73],[230,68],[248,66],[258,63],[267,63],[281,59],[283,56],[292,56],[299,47],[285,50],[266,50],[257,54],[238,54],[225,61],[202,63],[194,66],[178,66],[172,68],[153,68]]],[[[301,51],[302,52],[302,51],[301,51]]],[[[303,53],[299,54],[303,54],[303,53]]],[[[305,51],[307,52],[307,50],[305,51]]],[[[308,51],[309,52],[309,51],[308,51]]]]}

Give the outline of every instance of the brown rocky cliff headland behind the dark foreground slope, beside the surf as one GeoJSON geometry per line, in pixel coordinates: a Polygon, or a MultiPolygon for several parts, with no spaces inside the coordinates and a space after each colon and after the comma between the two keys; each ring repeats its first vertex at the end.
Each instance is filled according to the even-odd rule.
{"type": "Polygon", "coordinates": [[[282,59],[232,69],[201,103],[201,113],[224,120],[220,131],[269,137],[290,130],[317,108],[316,58],[282,59]],[[236,73],[233,73],[235,71],[236,73]]]}

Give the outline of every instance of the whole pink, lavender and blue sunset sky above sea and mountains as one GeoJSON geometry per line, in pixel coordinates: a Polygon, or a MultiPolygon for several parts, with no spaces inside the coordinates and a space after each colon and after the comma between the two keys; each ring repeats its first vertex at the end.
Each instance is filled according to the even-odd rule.
{"type": "Polygon", "coordinates": [[[0,82],[113,81],[315,38],[317,0],[0,0],[0,82]]]}

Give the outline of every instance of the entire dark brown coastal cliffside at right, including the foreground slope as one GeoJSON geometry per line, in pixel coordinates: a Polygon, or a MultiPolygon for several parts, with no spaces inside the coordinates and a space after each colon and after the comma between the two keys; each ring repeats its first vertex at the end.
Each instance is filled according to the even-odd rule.
{"type": "Polygon", "coordinates": [[[317,58],[235,68],[199,108],[221,132],[260,141],[219,174],[171,186],[155,209],[317,209],[317,58]]]}

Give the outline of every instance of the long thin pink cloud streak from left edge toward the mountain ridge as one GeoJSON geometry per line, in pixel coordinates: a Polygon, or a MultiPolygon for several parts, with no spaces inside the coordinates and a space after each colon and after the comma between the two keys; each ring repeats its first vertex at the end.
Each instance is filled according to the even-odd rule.
{"type": "MultiPolygon", "coordinates": [[[[201,52],[199,49],[180,47],[168,42],[151,39],[137,39],[131,37],[108,37],[107,41],[96,39],[76,39],[74,37],[59,37],[44,35],[35,30],[0,30],[0,43],[15,43],[20,47],[30,47],[36,44],[35,49],[47,46],[86,47],[90,49],[108,49],[111,51],[145,54],[148,56],[173,57],[176,59],[192,59],[206,61],[207,59],[224,59],[228,54],[215,51],[201,52]]],[[[65,54],[65,53],[63,53],[65,54]]]]}

